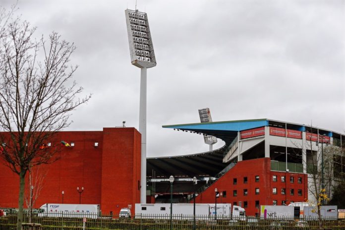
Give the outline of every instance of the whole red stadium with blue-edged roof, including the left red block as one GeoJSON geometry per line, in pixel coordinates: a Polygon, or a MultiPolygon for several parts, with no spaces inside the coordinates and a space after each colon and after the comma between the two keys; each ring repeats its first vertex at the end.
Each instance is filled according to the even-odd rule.
{"type": "MultiPolygon", "coordinates": [[[[214,136],[225,145],[205,153],[148,158],[147,203],[170,203],[169,177],[173,175],[174,203],[192,202],[195,192],[197,203],[216,199],[241,206],[250,216],[258,215],[260,205],[310,199],[309,166],[326,145],[340,148],[345,138],[331,130],[272,119],[163,127],[214,136]],[[197,184],[192,181],[194,176],[197,184]]],[[[100,204],[103,213],[117,215],[121,208],[134,209],[140,203],[141,138],[135,128],[63,131],[52,141],[70,146],[61,145],[57,162],[33,170],[42,178],[36,178],[34,208],[44,203],[100,204]]],[[[4,164],[0,171],[0,206],[17,207],[18,176],[4,164]]],[[[345,169],[335,168],[336,172],[345,169]]]]}

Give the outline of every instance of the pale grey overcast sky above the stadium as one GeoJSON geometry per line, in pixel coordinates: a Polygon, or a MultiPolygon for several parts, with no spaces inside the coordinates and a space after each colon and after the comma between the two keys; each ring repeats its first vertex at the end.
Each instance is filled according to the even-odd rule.
{"type": "MultiPolygon", "coordinates": [[[[8,6],[12,0],[0,0],[8,6]]],[[[140,69],[124,10],[135,0],[19,0],[22,20],[74,42],[74,79],[93,96],[66,130],[138,129],[140,69]]],[[[147,70],[147,155],[208,151],[162,125],[270,118],[345,130],[345,0],[137,0],[157,66],[147,70]]],[[[224,143],[219,141],[215,148],[224,143]]]]}

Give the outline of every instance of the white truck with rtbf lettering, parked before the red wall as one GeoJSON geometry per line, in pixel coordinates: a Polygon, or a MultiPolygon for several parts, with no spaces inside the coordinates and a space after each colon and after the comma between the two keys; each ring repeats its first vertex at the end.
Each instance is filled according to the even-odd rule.
{"type": "Polygon", "coordinates": [[[44,204],[40,208],[39,217],[100,217],[99,204],[44,204]]]}

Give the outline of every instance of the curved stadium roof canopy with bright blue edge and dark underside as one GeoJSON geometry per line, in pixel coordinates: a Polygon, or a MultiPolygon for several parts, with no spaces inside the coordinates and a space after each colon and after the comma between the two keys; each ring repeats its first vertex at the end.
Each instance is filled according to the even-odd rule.
{"type": "Polygon", "coordinates": [[[168,178],[170,175],[182,178],[215,176],[227,167],[228,164],[223,163],[223,156],[227,153],[231,142],[236,138],[237,132],[266,125],[268,125],[267,119],[164,125],[164,128],[215,136],[225,141],[225,145],[211,152],[176,157],[147,158],[147,176],[149,178],[152,176],[154,178],[168,178]]]}

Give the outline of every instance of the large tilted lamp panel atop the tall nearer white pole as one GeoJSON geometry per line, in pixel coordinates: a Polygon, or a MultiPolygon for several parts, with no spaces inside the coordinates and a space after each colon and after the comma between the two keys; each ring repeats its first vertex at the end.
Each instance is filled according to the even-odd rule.
{"type": "Polygon", "coordinates": [[[156,66],[147,14],[125,10],[131,62],[140,68],[156,66]]]}

